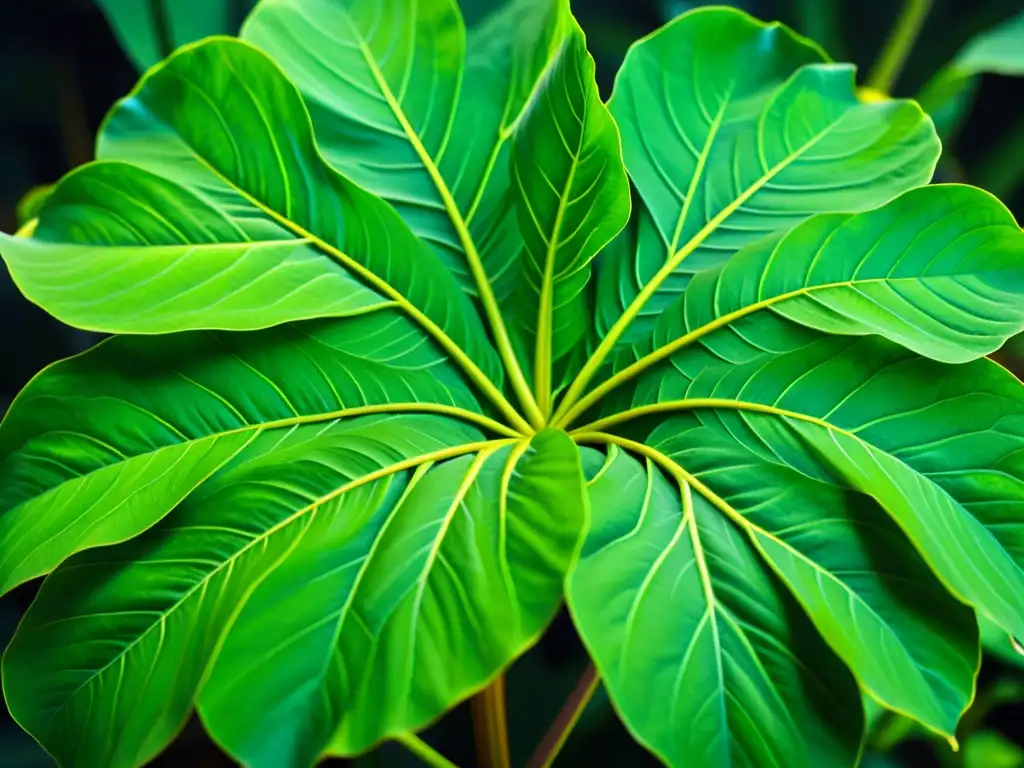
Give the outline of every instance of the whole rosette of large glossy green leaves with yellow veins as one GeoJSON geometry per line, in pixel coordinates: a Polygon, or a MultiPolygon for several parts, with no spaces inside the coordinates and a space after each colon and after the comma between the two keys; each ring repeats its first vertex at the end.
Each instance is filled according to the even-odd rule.
{"type": "Polygon", "coordinates": [[[307,766],[564,600],[671,765],[854,765],[861,691],[951,739],[976,614],[1024,637],[1024,233],[854,82],[711,8],[605,104],[565,0],[264,0],[150,71],[0,240],[119,334],[0,428],[18,722],[307,766]]]}

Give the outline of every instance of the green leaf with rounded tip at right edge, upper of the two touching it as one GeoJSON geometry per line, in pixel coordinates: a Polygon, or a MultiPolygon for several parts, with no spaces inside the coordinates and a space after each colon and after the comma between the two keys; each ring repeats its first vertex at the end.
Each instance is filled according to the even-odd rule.
{"type": "Polygon", "coordinates": [[[803,341],[792,322],[964,362],[1024,329],[1022,297],[1024,237],[1005,206],[970,186],[913,189],[873,211],[815,216],[705,270],[563,421],[602,397],[607,413],[665,399],[675,369],[695,375],[709,356],[783,351],[803,341]]]}

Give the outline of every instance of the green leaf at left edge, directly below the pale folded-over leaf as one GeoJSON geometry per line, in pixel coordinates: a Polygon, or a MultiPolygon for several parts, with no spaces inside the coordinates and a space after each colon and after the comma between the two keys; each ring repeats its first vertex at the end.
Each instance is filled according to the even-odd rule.
{"type": "Polygon", "coordinates": [[[0,426],[0,594],[144,530],[256,433],[368,407],[488,421],[393,309],[245,335],[122,336],[50,367],[0,426]]]}

